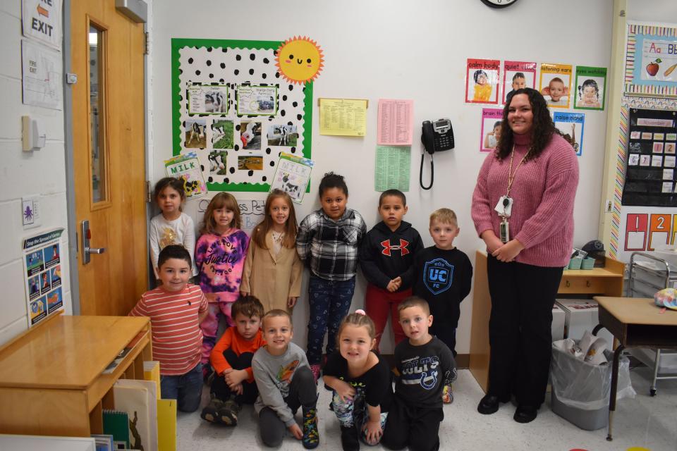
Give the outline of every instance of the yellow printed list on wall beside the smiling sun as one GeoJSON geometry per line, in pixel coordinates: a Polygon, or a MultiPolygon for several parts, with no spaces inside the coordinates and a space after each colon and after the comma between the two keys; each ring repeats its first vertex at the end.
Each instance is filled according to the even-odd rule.
{"type": "Polygon", "coordinates": [[[319,134],[367,135],[367,101],[364,99],[319,99],[319,134]]]}

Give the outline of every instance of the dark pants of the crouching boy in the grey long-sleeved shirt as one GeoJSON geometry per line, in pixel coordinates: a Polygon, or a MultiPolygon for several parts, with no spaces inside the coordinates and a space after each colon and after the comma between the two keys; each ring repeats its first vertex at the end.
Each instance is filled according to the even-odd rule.
{"type": "MultiPolygon", "coordinates": [[[[312,371],[307,366],[301,366],[294,372],[289,384],[289,395],[284,398],[291,412],[296,413],[300,406],[314,409],[317,404],[317,385],[312,371]]],[[[277,447],[287,432],[287,426],[276,412],[270,407],[264,407],[259,412],[259,431],[264,445],[277,447]]]]}

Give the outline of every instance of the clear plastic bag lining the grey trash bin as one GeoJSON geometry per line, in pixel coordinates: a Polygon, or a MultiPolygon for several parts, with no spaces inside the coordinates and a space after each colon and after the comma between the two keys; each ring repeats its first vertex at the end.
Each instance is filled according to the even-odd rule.
{"type": "MultiPolygon", "coordinates": [[[[552,390],[557,399],[569,407],[583,410],[609,407],[614,354],[605,350],[604,355],[609,363],[594,365],[573,357],[571,353],[561,350],[562,347],[557,341],[553,342],[550,362],[552,390]]],[[[621,356],[616,400],[624,397],[634,398],[635,390],[630,383],[630,360],[621,356]]]]}

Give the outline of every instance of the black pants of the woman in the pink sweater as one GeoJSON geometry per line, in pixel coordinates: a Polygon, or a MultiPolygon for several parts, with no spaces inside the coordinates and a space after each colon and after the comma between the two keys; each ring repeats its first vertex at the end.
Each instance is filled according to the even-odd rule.
{"type": "Polygon", "coordinates": [[[552,306],[563,268],[487,259],[490,395],[539,407],[545,399],[552,353],[552,306]]]}

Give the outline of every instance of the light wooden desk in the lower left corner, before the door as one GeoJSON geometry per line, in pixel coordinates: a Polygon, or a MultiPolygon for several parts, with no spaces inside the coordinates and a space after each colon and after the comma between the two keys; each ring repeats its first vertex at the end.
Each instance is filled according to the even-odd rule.
{"type": "Polygon", "coordinates": [[[102,433],[113,384],[143,378],[150,319],[60,315],[0,349],[0,433],[89,437],[102,433]],[[138,338],[110,374],[102,371],[138,338]]]}

